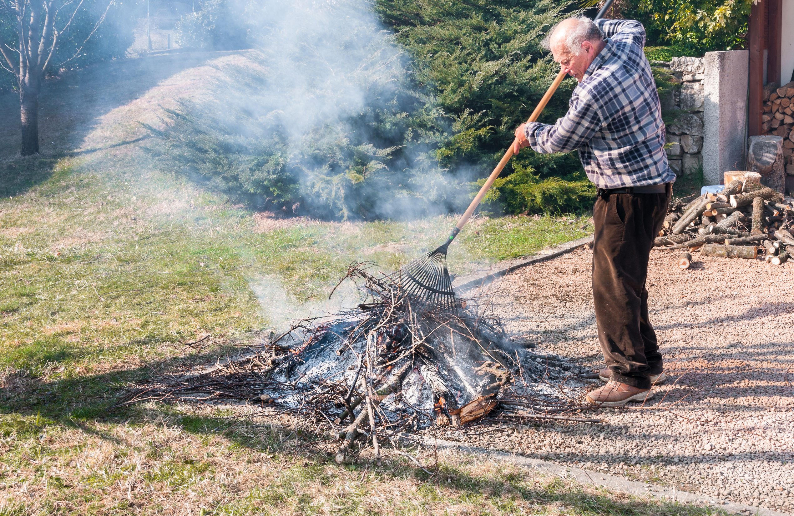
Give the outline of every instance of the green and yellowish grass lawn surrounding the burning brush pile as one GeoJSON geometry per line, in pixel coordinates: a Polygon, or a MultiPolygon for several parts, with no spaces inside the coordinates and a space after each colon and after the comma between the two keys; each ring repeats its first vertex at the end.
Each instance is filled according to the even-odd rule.
{"type": "MultiPolygon", "coordinates": [[[[200,94],[214,70],[206,55],[174,59],[48,84],[36,157],[14,154],[17,97],[0,98],[0,515],[703,512],[454,454],[433,476],[402,457],[340,467],[311,453],[310,430],[229,411],[109,412],[152,368],[329,309],[350,262],[391,271],[454,224],[280,220],[161,174],[135,122],[200,94]]],[[[466,273],[589,231],[586,218],[479,218],[449,261],[466,273]]]]}

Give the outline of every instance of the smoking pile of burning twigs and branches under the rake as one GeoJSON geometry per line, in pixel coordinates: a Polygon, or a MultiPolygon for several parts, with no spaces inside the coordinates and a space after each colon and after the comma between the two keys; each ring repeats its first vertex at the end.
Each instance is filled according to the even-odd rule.
{"type": "Polygon", "coordinates": [[[364,303],[295,323],[242,357],[170,373],[130,391],[117,406],[147,401],[252,403],[309,418],[333,436],[336,460],[355,448],[431,426],[484,417],[599,422],[576,415],[595,373],[530,351],[489,315],[488,304],[453,310],[422,304],[362,264],[345,278],[364,303]]]}

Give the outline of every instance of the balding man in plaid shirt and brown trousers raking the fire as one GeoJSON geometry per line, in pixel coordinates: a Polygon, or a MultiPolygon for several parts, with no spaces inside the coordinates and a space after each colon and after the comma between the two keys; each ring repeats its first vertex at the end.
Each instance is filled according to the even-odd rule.
{"type": "Polygon", "coordinates": [[[607,384],[588,403],[615,407],[653,396],[664,380],[656,334],[648,320],[646,276],[676,175],[667,162],[665,125],[638,21],[586,17],[561,21],[547,46],[576,77],[568,113],[556,124],[531,122],[515,131],[514,152],[579,151],[598,189],[593,207],[593,304],[607,384]]]}

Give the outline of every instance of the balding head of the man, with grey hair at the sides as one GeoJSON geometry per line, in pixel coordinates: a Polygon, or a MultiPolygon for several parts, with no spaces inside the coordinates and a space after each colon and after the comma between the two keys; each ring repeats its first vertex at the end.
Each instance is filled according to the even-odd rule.
{"type": "Polygon", "coordinates": [[[554,60],[579,82],[605,45],[603,32],[584,16],[567,18],[554,25],[543,44],[551,50],[554,60]]]}

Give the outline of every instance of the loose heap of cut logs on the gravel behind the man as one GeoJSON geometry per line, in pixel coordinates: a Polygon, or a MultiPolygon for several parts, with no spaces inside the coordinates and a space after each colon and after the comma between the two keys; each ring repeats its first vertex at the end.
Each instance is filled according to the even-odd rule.
{"type": "Polygon", "coordinates": [[[767,186],[737,179],[720,193],[688,204],[676,200],[655,245],[681,250],[681,269],[688,268],[695,250],[725,258],[761,254],[773,265],[794,262],[794,203],[767,186]]]}

